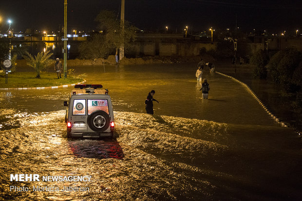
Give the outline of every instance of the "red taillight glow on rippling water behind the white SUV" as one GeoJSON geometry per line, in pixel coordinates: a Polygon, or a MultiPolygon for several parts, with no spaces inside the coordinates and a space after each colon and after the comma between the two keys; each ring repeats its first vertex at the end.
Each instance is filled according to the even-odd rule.
{"type": "Polygon", "coordinates": [[[97,159],[123,159],[122,147],[116,141],[71,140],[68,142],[73,154],[78,157],[97,159]]]}

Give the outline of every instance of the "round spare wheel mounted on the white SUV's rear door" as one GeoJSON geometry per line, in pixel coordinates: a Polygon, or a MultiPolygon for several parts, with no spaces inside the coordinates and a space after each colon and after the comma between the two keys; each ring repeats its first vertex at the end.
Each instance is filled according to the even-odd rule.
{"type": "Polygon", "coordinates": [[[106,112],[97,110],[91,113],[87,122],[89,128],[95,132],[103,132],[110,126],[110,117],[106,112]]]}

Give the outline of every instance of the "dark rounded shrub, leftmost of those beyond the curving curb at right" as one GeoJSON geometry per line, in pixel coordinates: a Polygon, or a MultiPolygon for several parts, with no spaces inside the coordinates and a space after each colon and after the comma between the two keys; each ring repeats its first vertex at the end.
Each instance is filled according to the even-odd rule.
{"type": "Polygon", "coordinates": [[[266,64],[268,63],[268,57],[265,55],[263,50],[257,51],[251,57],[251,64],[255,65],[254,68],[254,76],[258,78],[266,78],[267,71],[266,71],[266,64]]]}

